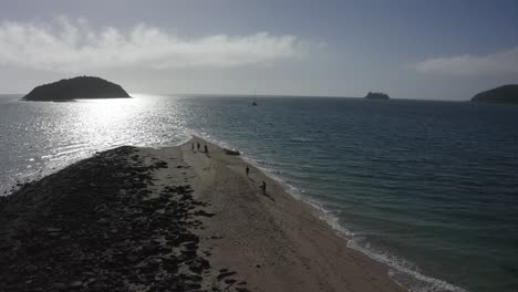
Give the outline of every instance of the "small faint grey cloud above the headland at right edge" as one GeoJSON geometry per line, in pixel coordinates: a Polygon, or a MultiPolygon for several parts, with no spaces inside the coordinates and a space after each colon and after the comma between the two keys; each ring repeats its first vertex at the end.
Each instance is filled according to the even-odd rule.
{"type": "Polygon", "coordinates": [[[423,73],[456,76],[499,76],[518,74],[518,48],[488,55],[458,55],[429,59],[416,64],[423,73]]]}

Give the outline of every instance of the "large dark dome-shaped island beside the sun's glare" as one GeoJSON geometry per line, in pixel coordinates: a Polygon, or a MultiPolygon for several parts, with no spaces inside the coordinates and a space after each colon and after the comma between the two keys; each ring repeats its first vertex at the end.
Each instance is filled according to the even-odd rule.
{"type": "Polygon", "coordinates": [[[118,84],[93,77],[79,76],[34,87],[24,101],[64,102],[77,98],[131,98],[118,84]]]}

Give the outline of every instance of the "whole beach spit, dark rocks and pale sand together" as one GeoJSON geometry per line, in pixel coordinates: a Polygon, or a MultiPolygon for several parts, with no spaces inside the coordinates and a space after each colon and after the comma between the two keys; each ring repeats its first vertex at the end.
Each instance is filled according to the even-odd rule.
{"type": "Polygon", "coordinates": [[[24,185],[0,202],[0,251],[6,291],[404,291],[199,137],[99,153],[24,185]]]}

